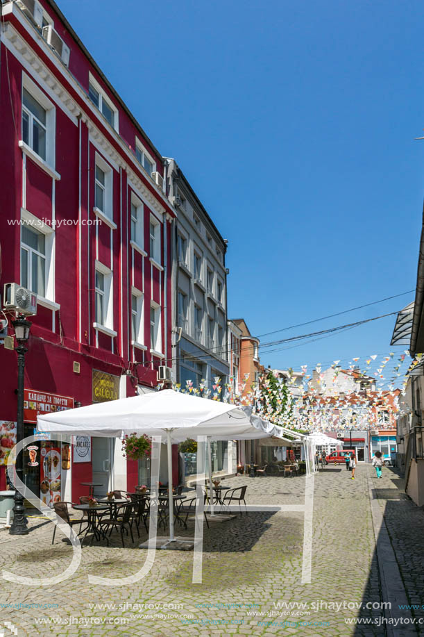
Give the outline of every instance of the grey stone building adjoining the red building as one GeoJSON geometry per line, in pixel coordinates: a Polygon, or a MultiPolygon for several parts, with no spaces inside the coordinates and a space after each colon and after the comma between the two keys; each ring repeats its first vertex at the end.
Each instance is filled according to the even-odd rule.
{"type": "Polygon", "coordinates": [[[167,162],[167,195],[176,208],[173,234],[173,380],[184,388],[205,379],[214,392],[228,381],[227,242],[176,160],[167,162]]]}

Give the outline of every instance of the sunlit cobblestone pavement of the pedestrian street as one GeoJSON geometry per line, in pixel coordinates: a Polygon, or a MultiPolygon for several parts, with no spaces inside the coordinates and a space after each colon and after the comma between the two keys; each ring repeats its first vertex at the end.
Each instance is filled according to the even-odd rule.
{"type": "MultiPolygon", "coordinates": [[[[125,549],[115,535],[110,547],[103,543],[84,546],[78,571],[60,584],[28,587],[2,581],[0,607],[43,607],[3,607],[0,624],[11,622],[18,629],[18,637],[108,635],[112,631],[117,635],[158,637],[381,635],[384,631],[377,624],[359,627],[345,621],[382,617],[377,608],[357,609],[359,604],[381,601],[366,479],[366,473],[371,472],[371,466],[359,465],[355,481],[344,467],[325,468],[315,475],[311,584],[301,584],[303,513],[249,513],[211,523],[210,529],[205,527],[202,584],[192,583],[193,552],[180,551],[156,552],[151,572],[130,587],[90,584],[89,574],[125,577],[144,564],[146,552],[138,549],[138,544],[146,540],[146,533],[143,531],[134,545],[126,540],[125,549]],[[45,608],[44,604],[58,606],[45,608]],[[143,609],[130,604],[157,606],[143,609]],[[48,620],[57,623],[47,624],[48,620]]],[[[378,481],[380,504],[389,509],[389,530],[400,551],[402,577],[413,600],[423,590],[424,533],[415,537],[412,524],[423,522],[423,513],[398,492],[397,480],[393,472],[384,470],[384,478],[378,481]],[[402,529],[411,526],[407,540],[412,543],[415,538],[414,547],[418,543],[421,548],[421,561],[410,556],[398,524],[402,529]]],[[[303,476],[237,477],[225,483],[248,484],[248,504],[303,504],[303,476]]],[[[26,537],[0,531],[1,568],[30,577],[51,577],[65,570],[71,560],[71,547],[59,531],[51,546],[52,527],[39,519],[31,520],[31,533],[26,537]]],[[[177,532],[192,536],[194,522],[187,531],[177,527],[177,532]]]]}

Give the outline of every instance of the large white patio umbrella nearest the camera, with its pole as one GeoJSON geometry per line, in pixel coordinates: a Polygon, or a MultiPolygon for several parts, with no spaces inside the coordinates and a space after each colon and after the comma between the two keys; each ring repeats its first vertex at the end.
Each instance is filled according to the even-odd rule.
{"type": "MultiPolygon", "coordinates": [[[[129,433],[162,435],[167,440],[169,540],[174,541],[173,442],[207,436],[210,440],[281,437],[280,427],[251,413],[251,408],[183,394],[171,389],[96,403],[37,417],[38,431],[121,438],[129,433]]],[[[212,493],[212,490],[211,492],[212,493]]]]}

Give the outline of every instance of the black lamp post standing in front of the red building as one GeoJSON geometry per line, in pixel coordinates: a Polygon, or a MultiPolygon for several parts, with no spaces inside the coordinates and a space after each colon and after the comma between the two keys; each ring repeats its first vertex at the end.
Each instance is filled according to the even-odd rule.
{"type": "MultiPolygon", "coordinates": [[[[12,321],[15,328],[15,336],[17,340],[17,432],[16,442],[21,442],[24,438],[24,369],[25,369],[25,352],[28,351],[25,345],[28,341],[31,323],[26,320],[24,315],[19,315],[15,321],[12,321]]],[[[23,458],[24,454],[19,452],[16,456],[16,475],[23,482],[23,458]]],[[[28,533],[28,520],[25,515],[24,496],[19,493],[15,487],[15,505],[13,506],[13,522],[9,529],[10,535],[24,536],[28,533]]]]}

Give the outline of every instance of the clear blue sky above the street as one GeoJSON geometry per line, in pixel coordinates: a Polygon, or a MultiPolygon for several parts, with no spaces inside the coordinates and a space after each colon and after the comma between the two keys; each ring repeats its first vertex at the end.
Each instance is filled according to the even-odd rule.
{"type": "MultiPolygon", "coordinates": [[[[230,317],[244,317],[261,335],[415,287],[422,2],[58,5],[228,239],[230,317]]],[[[281,338],[388,313],[412,299],[281,338]]],[[[385,354],[393,324],[389,317],[263,353],[262,363],[298,368],[385,354]]]]}

